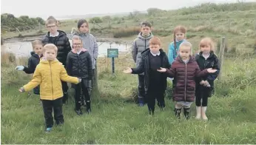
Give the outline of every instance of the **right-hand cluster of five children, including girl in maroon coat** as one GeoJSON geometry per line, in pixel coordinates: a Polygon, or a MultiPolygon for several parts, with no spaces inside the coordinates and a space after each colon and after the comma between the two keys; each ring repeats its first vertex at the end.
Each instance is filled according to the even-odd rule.
{"type": "Polygon", "coordinates": [[[190,117],[190,107],[195,101],[195,118],[207,121],[208,98],[214,92],[214,81],[220,71],[218,57],[214,53],[211,38],[203,38],[199,43],[199,53],[192,55],[192,44],[186,41],[186,28],[175,27],[173,41],[169,44],[168,55],[161,49],[161,41],[152,36],[151,24],[141,23],[141,33],[132,44],[132,58],[135,68],[127,68],[124,73],[138,74],[138,103],[147,104],[149,114],[155,112],[155,99],[161,110],[165,107],[164,92],[167,77],[172,79],[175,101],[175,116],[190,117]]]}

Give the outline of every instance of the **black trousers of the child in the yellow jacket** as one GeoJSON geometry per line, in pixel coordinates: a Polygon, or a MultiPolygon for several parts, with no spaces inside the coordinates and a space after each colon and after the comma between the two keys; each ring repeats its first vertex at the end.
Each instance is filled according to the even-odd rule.
{"type": "Polygon", "coordinates": [[[53,115],[55,124],[64,124],[64,115],[62,114],[62,97],[55,100],[41,100],[44,109],[44,119],[46,127],[53,127],[53,115]]]}

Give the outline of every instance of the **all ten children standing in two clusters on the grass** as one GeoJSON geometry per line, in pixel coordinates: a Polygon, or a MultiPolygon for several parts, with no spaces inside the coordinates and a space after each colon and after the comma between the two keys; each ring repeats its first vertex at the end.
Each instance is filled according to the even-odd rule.
{"type": "MultiPolygon", "coordinates": [[[[33,89],[40,95],[44,109],[46,131],[55,124],[64,124],[62,105],[67,104],[67,82],[75,88],[75,112],[82,115],[81,95],[84,96],[87,112],[91,112],[90,91],[95,81],[98,44],[89,33],[86,20],[78,21],[77,30],[72,30],[72,46],[67,34],[58,30],[58,21],[51,17],[46,21],[49,31],[41,41],[32,42],[33,52],[27,67],[17,66],[27,74],[33,73],[33,79],[19,89],[26,92],[33,89]]],[[[214,80],[220,70],[218,58],[210,38],[200,42],[200,53],[192,55],[192,44],[186,41],[185,27],[175,27],[173,42],[169,44],[168,54],[161,49],[161,41],[151,33],[151,24],[143,22],[141,33],[132,44],[132,58],[135,68],[127,68],[124,73],[138,74],[139,106],[147,104],[149,114],[155,112],[155,99],[158,107],[165,108],[164,95],[167,78],[172,78],[175,115],[181,117],[181,109],[186,118],[190,116],[190,106],[196,102],[197,116],[207,120],[206,107],[208,97],[214,90],[214,80]]]]}

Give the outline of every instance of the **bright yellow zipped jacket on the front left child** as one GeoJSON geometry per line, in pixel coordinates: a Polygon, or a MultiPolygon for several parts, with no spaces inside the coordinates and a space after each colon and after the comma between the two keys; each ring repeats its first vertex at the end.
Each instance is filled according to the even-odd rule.
{"type": "Polygon", "coordinates": [[[55,100],[63,96],[61,81],[78,84],[78,78],[67,75],[67,71],[58,59],[47,61],[43,58],[36,66],[33,79],[24,85],[24,91],[32,90],[40,84],[40,98],[55,100]]]}

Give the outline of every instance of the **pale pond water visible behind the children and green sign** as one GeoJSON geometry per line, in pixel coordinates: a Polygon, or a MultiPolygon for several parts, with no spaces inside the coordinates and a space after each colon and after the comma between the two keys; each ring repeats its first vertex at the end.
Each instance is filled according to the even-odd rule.
{"type": "MultiPolygon", "coordinates": [[[[72,44],[72,41],[70,40],[70,44],[72,44]]],[[[102,57],[107,55],[107,49],[110,48],[110,43],[109,42],[98,42],[98,56],[102,57]]],[[[119,53],[126,53],[130,45],[129,44],[111,44],[111,48],[118,48],[119,53]]],[[[1,46],[1,51],[7,51],[11,53],[15,53],[16,56],[30,56],[30,52],[33,50],[32,49],[32,44],[31,42],[7,42],[4,43],[3,46],[1,46]],[[3,49],[4,48],[4,49],[3,49]]]]}

